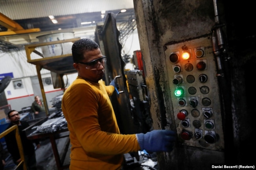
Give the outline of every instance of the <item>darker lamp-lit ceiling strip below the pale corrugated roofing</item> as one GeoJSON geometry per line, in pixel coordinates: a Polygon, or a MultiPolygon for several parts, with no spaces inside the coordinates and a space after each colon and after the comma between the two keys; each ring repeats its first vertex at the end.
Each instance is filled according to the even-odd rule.
{"type": "MultiPolygon", "coordinates": [[[[117,24],[123,24],[124,26],[126,26],[122,29],[128,29],[127,27],[130,26],[133,27],[131,29],[135,29],[134,24],[126,24],[135,23],[134,9],[126,9],[126,12],[123,13],[121,13],[120,11],[121,9],[106,11],[106,14],[115,14],[117,24]]],[[[24,45],[26,44],[38,42],[36,37],[56,32],[59,33],[72,31],[75,33],[75,35],[76,32],[80,33],[78,36],[82,36],[83,33],[85,35],[91,34],[91,36],[94,36],[96,24],[103,23],[105,21],[106,14],[104,18],[102,18],[101,12],[55,16],[55,19],[58,21],[57,24],[54,24],[49,17],[13,20],[13,22],[19,24],[19,26],[21,26],[24,30],[39,31],[9,35],[8,32],[10,32],[10,29],[3,26],[4,24],[0,25],[0,51],[23,49],[24,45]],[[91,23],[81,24],[85,21],[91,21],[91,23]],[[88,33],[88,31],[91,33],[88,33]]]]}

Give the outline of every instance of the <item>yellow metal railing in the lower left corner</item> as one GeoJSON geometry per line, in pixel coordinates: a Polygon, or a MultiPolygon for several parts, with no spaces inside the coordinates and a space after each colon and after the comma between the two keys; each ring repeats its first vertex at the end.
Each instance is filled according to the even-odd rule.
{"type": "Polygon", "coordinates": [[[25,158],[24,158],[24,152],[23,152],[23,147],[22,147],[22,143],[21,143],[21,139],[20,139],[18,126],[14,125],[11,128],[7,129],[6,131],[0,133],[0,139],[2,137],[6,136],[8,133],[12,132],[13,130],[15,130],[15,138],[16,138],[16,141],[17,141],[17,145],[18,145],[19,152],[20,152],[20,159],[21,159],[19,165],[17,165],[15,170],[18,169],[19,166],[22,166],[22,164],[23,164],[23,170],[27,170],[26,161],[25,161],[25,158]]]}

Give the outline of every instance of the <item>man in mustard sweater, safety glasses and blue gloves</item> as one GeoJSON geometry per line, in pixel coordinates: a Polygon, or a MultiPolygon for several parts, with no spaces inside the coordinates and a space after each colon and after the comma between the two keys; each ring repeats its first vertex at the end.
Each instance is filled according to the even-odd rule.
{"type": "Polygon", "coordinates": [[[87,38],[74,42],[72,56],[78,77],[65,91],[61,106],[72,145],[70,170],[120,170],[125,153],[173,150],[176,133],[171,130],[120,134],[109,99],[115,82],[102,83],[106,56],[96,42],[87,38]]]}

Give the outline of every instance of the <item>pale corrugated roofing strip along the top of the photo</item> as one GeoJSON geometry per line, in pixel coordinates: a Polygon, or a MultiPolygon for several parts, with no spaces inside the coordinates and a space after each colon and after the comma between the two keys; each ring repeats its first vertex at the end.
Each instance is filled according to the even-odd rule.
{"type": "Polygon", "coordinates": [[[0,0],[0,13],[12,20],[130,8],[133,0],[0,0]]]}

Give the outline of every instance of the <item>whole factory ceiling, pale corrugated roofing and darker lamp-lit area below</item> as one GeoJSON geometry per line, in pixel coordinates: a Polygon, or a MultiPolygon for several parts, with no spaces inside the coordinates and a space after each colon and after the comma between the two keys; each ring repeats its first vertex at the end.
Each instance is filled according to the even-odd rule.
{"type": "Polygon", "coordinates": [[[0,52],[20,49],[38,42],[36,37],[51,33],[72,31],[75,37],[94,36],[96,24],[104,23],[108,13],[118,14],[117,25],[125,25],[122,29],[134,29],[135,23],[133,0],[0,0],[0,4],[0,14],[18,25],[13,28],[13,23],[4,23],[0,15],[0,52]],[[122,9],[126,12],[120,13],[122,9]],[[58,23],[54,24],[49,15],[58,23]]]}

